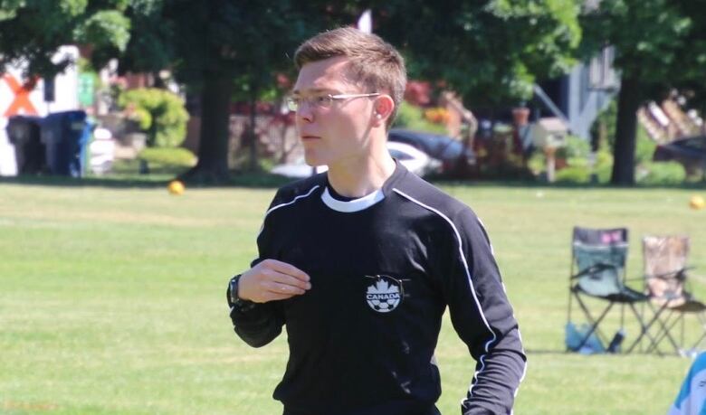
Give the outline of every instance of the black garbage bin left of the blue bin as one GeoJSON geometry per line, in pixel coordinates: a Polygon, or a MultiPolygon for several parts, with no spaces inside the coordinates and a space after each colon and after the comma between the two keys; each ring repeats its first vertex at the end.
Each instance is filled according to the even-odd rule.
{"type": "Polygon", "coordinates": [[[46,148],[41,140],[42,118],[13,116],[7,120],[7,138],[14,145],[17,174],[38,174],[47,170],[46,148]]]}

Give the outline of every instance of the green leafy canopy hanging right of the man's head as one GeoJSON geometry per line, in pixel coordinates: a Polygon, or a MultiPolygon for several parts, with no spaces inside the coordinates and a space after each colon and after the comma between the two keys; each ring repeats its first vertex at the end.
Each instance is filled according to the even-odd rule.
{"type": "Polygon", "coordinates": [[[415,79],[444,80],[470,105],[516,104],[531,98],[535,80],[574,64],[581,3],[390,1],[379,33],[405,45],[415,79]]]}

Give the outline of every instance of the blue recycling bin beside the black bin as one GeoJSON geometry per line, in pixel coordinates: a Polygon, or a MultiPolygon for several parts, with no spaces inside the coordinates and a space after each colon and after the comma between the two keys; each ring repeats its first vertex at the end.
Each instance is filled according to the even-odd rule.
{"type": "Polygon", "coordinates": [[[55,112],[42,120],[42,142],[46,147],[49,173],[83,175],[92,128],[85,111],[55,112]]]}

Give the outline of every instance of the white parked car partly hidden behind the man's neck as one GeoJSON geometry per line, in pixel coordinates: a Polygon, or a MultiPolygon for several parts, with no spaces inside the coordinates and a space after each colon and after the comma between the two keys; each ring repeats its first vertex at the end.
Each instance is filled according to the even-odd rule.
{"type": "MultiPolygon", "coordinates": [[[[441,167],[439,160],[426,156],[424,152],[407,144],[388,141],[387,150],[390,152],[390,156],[404,165],[407,170],[418,176],[437,172],[441,167]]],[[[312,174],[325,172],[328,169],[329,167],[326,165],[311,167],[304,162],[304,157],[302,156],[293,163],[275,165],[272,167],[271,173],[280,174],[285,177],[304,178],[312,174]]]]}

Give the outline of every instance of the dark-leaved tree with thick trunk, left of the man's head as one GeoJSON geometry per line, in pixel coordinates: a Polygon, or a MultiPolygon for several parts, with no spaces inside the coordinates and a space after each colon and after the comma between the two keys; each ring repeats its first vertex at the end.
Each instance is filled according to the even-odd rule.
{"type": "MultiPolygon", "coordinates": [[[[227,177],[229,107],[234,94],[244,94],[254,104],[277,72],[291,69],[291,53],[299,42],[320,30],[319,21],[310,18],[316,15],[306,8],[310,6],[295,3],[174,0],[160,5],[162,23],[171,31],[157,37],[173,51],[176,78],[201,96],[198,164],[187,178],[222,181],[227,177]]],[[[249,140],[254,151],[254,137],[249,140]]]]}

